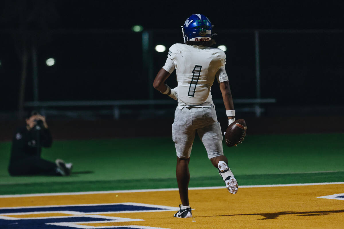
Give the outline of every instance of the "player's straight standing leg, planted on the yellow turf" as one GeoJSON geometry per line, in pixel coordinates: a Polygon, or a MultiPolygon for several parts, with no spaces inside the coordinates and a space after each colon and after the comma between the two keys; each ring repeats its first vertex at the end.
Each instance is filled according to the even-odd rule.
{"type": "Polygon", "coordinates": [[[180,210],[174,214],[174,217],[189,218],[192,216],[188,195],[189,161],[195,138],[195,130],[192,128],[192,115],[189,109],[180,110],[176,108],[174,123],[172,124],[172,138],[177,154],[176,178],[182,202],[180,210]]]}

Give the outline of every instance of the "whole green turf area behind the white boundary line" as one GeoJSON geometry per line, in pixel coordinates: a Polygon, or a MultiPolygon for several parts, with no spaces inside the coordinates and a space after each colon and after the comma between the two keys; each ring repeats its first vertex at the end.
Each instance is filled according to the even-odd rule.
{"type": "MultiPolygon", "coordinates": [[[[224,151],[239,185],[342,182],[343,137],[252,135],[238,147],[224,146],[224,151]]],[[[0,143],[0,194],[177,187],[175,149],[170,138],[55,141],[52,148],[43,149],[42,157],[73,162],[69,177],[9,176],[10,147],[10,142],[0,143]]],[[[192,187],[223,185],[197,138],[190,174],[192,187]]]]}

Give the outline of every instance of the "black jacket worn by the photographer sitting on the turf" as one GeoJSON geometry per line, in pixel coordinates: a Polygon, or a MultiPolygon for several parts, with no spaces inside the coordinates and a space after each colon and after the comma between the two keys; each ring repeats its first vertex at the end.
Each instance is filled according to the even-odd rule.
{"type": "Polygon", "coordinates": [[[42,147],[51,147],[52,141],[49,129],[33,127],[29,131],[26,126],[19,127],[12,138],[10,166],[29,158],[40,158],[42,147]]]}

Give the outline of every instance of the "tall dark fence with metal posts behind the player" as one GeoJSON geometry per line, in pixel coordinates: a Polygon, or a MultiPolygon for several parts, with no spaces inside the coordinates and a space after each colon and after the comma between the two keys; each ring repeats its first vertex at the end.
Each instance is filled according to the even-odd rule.
{"type": "MultiPolygon", "coordinates": [[[[23,33],[0,32],[8,39],[23,33]]],[[[139,105],[175,106],[174,101],[162,100],[161,94],[154,91],[152,81],[165,62],[168,47],[181,42],[179,29],[139,33],[116,30],[24,32],[33,33],[41,37],[40,40],[45,37],[44,42],[32,46],[26,107],[106,106],[113,111],[114,118],[120,118],[123,106],[132,106],[133,111],[139,105]],[[165,45],[167,50],[156,52],[157,44],[165,45]],[[44,60],[51,56],[56,56],[56,65],[48,67],[44,60]]],[[[266,103],[277,102],[282,106],[300,101],[326,103],[319,100],[320,95],[312,93],[318,87],[334,93],[333,98],[340,98],[336,87],[343,81],[338,75],[344,73],[341,65],[343,30],[215,32],[219,34],[214,37],[217,45],[227,46],[226,70],[235,104],[244,105],[240,108],[243,111],[260,116],[266,103]],[[325,73],[327,79],[337,83],[318,82],[325,73]]],[[[2,50],[3,53],[11,51],[10,48],[2,50]]],[[[167,83],[176,85],[173,75],[167,83]]],[[[212,87],[212,94],[216,103],[221,103],[216,85],[212,87]]]]}

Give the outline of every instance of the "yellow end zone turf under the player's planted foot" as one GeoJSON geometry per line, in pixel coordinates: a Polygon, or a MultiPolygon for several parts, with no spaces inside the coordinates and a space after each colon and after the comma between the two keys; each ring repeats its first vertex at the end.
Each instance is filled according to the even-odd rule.
{"type": "MultiPolygon", "coordinates": [[[[155,228],[344,228],[344,201],[317,198],[344,193],[344,184],[249,187],[230,194],[225,188],[190,190],[193,218],[174,218],[175,211],[103,213],[102,216],[144,221],[90,222],[78,225],[145,226],[155,228]]],[[[0,207],[141,203],[178,207],[178,191],[96,193],[0,198],[0,207]]],[[[61,213],[30,214],[30,217],[62,216],[61,213]]],[[[87,214],[85,214],[87,215],[87,214]]],[[[1,215],[0,216],[4,216],[1,215]]],[[[28,217],[6,214],[7,217],[28,217]]],[[[57,227],[54,227],[57,228],[57,227]]],[[[144,228],[144,227],[141,227],[144,228]]]]}

